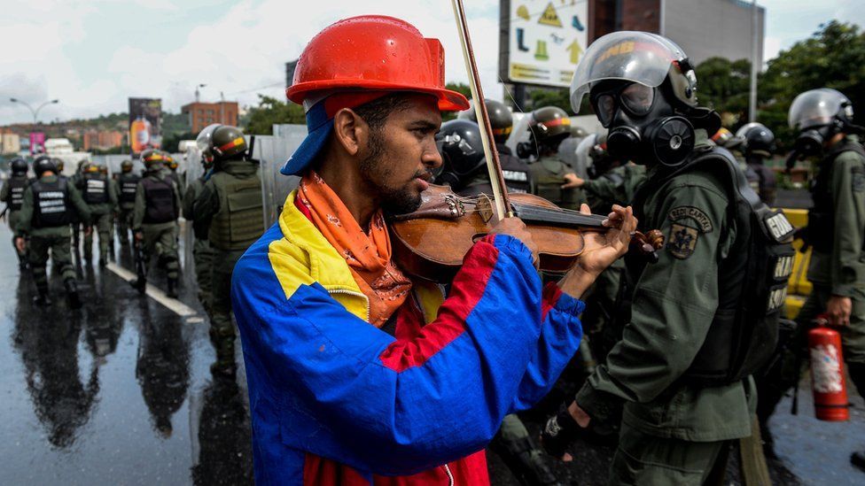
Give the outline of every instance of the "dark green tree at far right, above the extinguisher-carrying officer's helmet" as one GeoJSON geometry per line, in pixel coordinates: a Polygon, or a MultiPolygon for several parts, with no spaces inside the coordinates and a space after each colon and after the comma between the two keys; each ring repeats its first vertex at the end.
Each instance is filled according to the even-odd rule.
{"type": "Polygon", "coordinates": [[[865,112],[865,33],[860,27],[832,20],[768,61],[760,76],[758,120],[775,132],[785,149],[795,136],[787,126],[793,98],[817,88],[838,89],[853,108],[865,112]]]}

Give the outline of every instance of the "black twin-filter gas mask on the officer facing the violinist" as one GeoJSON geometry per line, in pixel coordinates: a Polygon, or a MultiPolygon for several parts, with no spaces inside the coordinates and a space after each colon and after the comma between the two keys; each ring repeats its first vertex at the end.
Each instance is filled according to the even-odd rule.
{"type": "Polygon", "coordinates": [[[601,125],[610,130],[612,158],[642,165],[679,166],[694,149],[694,127],[676,115],[662,89],[612,81],[591,90],[601,125]]]}

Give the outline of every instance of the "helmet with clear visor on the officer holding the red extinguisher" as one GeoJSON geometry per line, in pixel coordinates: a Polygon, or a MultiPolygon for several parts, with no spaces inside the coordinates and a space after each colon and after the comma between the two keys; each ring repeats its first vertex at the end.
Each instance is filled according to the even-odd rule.
{"type": "Polygon", "coordinates": [[[835,89],[811,89],[796,96],[790,105],[787,121],[799,132],[794,152],[800,156],[813,156],[839,133],[861,132],[853,125],[853,104],[847,96],[835,89]]]}

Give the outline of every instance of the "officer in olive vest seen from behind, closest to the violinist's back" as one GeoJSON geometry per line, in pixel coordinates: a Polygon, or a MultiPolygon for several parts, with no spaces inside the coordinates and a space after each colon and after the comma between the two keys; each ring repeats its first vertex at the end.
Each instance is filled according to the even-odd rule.
{"type": "Polygon", "coordinates": [[[211,338],[216,362],[211,369],[232,375],[236,333],[231,320],[231,273],[244,251],[264,233],[261,175],[258,163],[247,158],[238,127],[207,127],[196,141],[202,155],[214,161],[214,173],[193,204],[196,237],[207,236],[214,249],[211,338]]]}

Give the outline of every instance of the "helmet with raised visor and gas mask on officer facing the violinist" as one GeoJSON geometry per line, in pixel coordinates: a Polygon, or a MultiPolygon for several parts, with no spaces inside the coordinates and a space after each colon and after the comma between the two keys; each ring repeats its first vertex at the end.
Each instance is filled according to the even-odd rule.
{"type": "Polygon", "coordinates": [[[695,128],[721,127],[716,112],[697,106],[689,58],[660,35],[622,31],[592,42],[573,75],[574,110],[587,94],[620,160],[679,166],[694,148],[695,128]]]}

